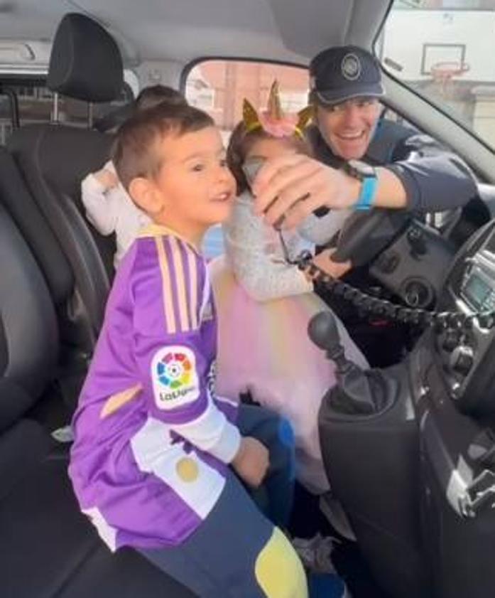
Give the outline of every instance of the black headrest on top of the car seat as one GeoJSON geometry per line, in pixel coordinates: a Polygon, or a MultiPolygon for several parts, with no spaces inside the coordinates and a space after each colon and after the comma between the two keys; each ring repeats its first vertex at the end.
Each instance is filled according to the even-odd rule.
{"type": "Polygon", "coordinates": [[[105,29],[83,14],[66,14],[53,40],[47,87],[86,102],[119,97],[124,69],[119,48],[105,29]]]}

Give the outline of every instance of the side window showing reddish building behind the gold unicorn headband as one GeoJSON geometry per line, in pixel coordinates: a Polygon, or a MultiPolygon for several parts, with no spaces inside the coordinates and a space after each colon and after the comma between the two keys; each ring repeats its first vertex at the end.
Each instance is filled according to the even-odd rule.
{"type": "MultiPolygon", "coordinates": [[[[283,110],[297,112],[308,102],[308,69],[254,60],[202,60],[185,70],[185,97],[191,105],[208,112],[222,132],[224,143],[242,117],[246,97],[256,110],[266,107],[273,80],[281,88],[283,110]]],[[[210,229],[204,252],[208,259],[223,252],[222,228],[210,229]]]]}

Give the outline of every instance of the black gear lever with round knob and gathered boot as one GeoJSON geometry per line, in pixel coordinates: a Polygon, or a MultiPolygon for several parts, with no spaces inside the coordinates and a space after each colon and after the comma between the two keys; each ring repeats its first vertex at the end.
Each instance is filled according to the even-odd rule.
{"type": "Polygon", "coordinates": [[[320,311],[312,317],[308,334],[312,342],[337,365],[337,385],[325,395],[335,411],[369,415],[384,409],[395,397],[395,380],[381,370],[361,370],[347,359],[340,343],[337,321],[330,311],[320,311]]]}

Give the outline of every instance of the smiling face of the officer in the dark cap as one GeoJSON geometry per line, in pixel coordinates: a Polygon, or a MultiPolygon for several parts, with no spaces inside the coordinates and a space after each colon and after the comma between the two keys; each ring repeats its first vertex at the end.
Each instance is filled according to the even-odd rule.
{"type": "Polygon", "coordinates": [[[381,112],[376,97],[358,97],[341,104],[317,105],[317,125],[333,153],[359,160],[371,142],[381,112]]]}

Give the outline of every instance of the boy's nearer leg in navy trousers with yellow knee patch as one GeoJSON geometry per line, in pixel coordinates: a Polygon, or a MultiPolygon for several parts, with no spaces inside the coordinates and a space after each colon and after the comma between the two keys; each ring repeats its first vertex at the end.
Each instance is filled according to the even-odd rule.
{"type": "Polygon", "coordinates": [[[298,555],[232,472],[190,538],[180,546],[139,552],[201,598],[308,598],[298,555]]]}

